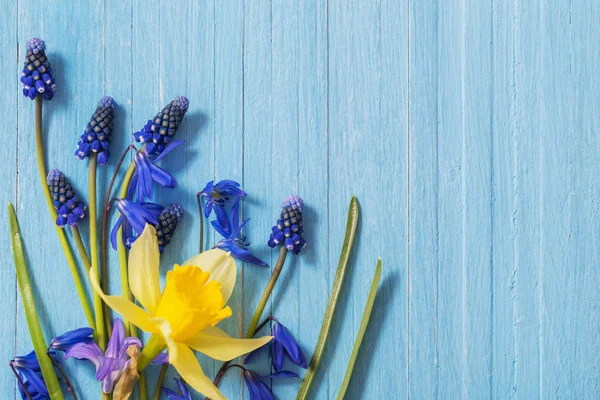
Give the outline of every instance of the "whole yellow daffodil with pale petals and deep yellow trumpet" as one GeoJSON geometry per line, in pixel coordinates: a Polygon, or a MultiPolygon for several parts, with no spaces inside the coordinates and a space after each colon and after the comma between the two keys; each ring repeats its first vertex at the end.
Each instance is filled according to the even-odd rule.
{"type": "Polygon", "coordinates": [[[181,266],[167,272],[164,289],[159,282],[158,241],[155,229],[146,225],[129,252],[129,283],[142,309],[123,296],[108,296],[92,275],[94,290],[113,310],[132,324],[152,335],[138,360],[143,370],[165,348],[169,363],[198,392],[225,399],[212,381],[204,375],[193,350],[220,361],[229,361],[255,350],[271,340],[235,339],[215,325],[231,316],[226,306],[236,280],[233,257],[222,250],[198,254],[181,266]]]}

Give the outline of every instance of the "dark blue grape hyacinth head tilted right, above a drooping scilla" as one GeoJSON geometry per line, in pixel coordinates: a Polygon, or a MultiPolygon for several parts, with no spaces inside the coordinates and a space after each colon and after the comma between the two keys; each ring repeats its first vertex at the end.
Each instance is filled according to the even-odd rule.
{"type": "Polygon", "coordinates": [[[153,119],[148,120],[142,130],[135,132],[133,139],[136,142],[145,143],[145,151],[149,155],[162,153],[179,129],[188,107],[187,97],[175,97],[153,119]]]}

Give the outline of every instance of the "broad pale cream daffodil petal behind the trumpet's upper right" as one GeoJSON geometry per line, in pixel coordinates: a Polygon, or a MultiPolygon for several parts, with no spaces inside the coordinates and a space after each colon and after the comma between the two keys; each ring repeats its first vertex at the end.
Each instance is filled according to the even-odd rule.
{"type": "Polygon", "coordinates": [[[229,300],[237,278],[237,268],[231,254],[220,249],[212,249],[192,257],[182,264],[182,266],[186,265],[195,265],[202,268],[204,272],[208,272],[211,280],[221,283],[221,293],[225,302],[229,300]]]}

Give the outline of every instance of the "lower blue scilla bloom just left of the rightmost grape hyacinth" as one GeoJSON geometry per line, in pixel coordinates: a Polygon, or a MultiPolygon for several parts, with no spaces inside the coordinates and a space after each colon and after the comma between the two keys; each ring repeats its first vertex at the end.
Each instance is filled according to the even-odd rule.
{"type": "Polygon", "coordinates": [[[266,262],[253,256],[250,250],[248,250],[250,243],[246,242],[246,238],[242,234],[242,228],[250,221],[250,218],[240,224],[239,209],[240,198],[238,197],[235,199],[235,203],[233,203],[233,207],[231,208],[230,218],[226,218],[226,225],[221,225],[218,219],[211,221],[215,230],[224,237],[224,239],[220,240],[215,247],[231,252],[231,255],[238,260],[266,267],[268,265],[266,262]]]}

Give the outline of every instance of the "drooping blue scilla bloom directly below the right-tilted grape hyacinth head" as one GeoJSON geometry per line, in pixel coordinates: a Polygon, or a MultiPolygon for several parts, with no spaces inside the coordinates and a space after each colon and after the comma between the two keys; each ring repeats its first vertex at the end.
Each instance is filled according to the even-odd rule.
{"type": "Polygon", "coordinates": [[[163,187],[175,187],[175,178],[164,169],[155,165],[155,163],[183,142],[183,140],[178,140],[169,143],[162,153],[153,160],[150,159],[146,151],[139,151],[136,154],[134,158],[136,168],[128,190],[129,198],[133,199],[137,197],[138,201],[152,199],[152,182],[156,182],[163,187]]]}

